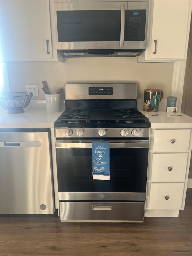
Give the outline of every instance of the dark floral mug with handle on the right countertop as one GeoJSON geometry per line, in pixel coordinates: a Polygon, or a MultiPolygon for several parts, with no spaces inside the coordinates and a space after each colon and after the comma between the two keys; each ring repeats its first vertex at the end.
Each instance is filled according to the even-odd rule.
{"type": "Polygon", "coordinates": [[[143,110],[148,112],[159,111],[159,102],[163,98],[163,91],[158,89],[144,89],[143,110]]]}

